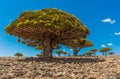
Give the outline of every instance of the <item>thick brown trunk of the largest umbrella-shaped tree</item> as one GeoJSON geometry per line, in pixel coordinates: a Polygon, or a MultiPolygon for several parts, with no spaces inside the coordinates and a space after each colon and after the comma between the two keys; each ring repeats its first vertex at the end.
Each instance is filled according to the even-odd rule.
{"type": "Polygon", "coordinates": [[[51,39],[49,38],[45,38],[44,42],[43,42],[43,46],[44,46],[44,52],[43,52],[43,56],[46,58],[52,58],[52,47],[51,47],[51,39]]]}

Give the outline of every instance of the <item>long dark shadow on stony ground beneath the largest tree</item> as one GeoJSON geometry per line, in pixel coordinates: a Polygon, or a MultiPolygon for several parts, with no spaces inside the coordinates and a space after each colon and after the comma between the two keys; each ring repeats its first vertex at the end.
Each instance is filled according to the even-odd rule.
{"type": "Polygon", "coordinates": [[[104,62],[104,59],[100,59],[99,57],[53,57],[53,58],[24,58],[18,61],[23,62],[47,62],[47,63],[97,63],[97,62],[104,62]]]}

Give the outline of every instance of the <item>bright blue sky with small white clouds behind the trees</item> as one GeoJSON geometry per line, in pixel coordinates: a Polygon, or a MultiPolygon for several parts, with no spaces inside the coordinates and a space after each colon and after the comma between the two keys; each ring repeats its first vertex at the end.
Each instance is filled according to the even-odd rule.
{"type": "MultiPolygon", "coordinates": [[[[84,53],[92,48],[110,47],[120,54],[120,0],[1,0],[0,1],[0,56],[13,56],[22,52],[35,56],[40,51],[16,42],[4,28],[25,10],[58,8],[78,17],[90,30],[88,39],[95,46],[83,48],[84,53]]],[[[72,53],[72,50],[61,48],[72,53]]],[[[99,51],[97,52],[99,55],[99,51]]]]}

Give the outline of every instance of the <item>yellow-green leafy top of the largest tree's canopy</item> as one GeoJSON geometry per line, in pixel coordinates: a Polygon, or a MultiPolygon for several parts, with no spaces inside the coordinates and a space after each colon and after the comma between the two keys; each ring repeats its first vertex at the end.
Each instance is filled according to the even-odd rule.
{"type": "Polygon", "coordinates": [[[11,33],[13,29],[16,28],[20,30],[20,27],[36,28],[36,26],[42,29],[49,28],[51,31],[65,29],[69,26],[84,31],[87,34],[89,33],[88,29],[79,21],[79,19],[76,19],[75,16],[58,9],[50,8],[34,12],[23,12],[19,18],[6,27],[6,31],[11,33]]]}

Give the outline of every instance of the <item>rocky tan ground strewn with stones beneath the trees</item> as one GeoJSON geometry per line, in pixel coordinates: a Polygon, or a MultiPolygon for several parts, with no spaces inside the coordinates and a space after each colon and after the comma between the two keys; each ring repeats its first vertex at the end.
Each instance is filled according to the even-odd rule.
{"type": "Polygon", "coordinates": [[[0,79],[120,79],[120,56],[1,57],[0,79]]]}

